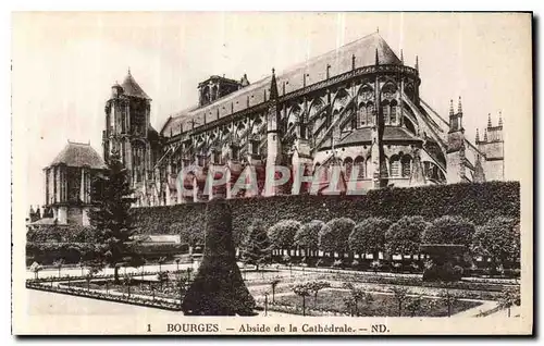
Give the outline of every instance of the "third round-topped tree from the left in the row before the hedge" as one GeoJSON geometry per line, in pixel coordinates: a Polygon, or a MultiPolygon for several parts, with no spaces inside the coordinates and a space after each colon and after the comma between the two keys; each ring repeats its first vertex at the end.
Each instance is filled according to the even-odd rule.
{"type": "Polygon", "coordinates": [[[349,250],[348,238],[355,227],[355,222],[348,218],[329,221],[319,232],[319,247],[326,252],[338,252],[344,258],[349,250]]]}

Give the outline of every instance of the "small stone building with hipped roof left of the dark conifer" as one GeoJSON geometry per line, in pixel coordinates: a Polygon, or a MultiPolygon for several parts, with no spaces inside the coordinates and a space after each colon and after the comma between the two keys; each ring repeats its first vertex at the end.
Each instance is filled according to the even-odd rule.
{"type": "Polygon", "coordinates": [[[92,205],[90,182],[104,168],[104,161],[90,144],[69,141],[44,169],[45,212],[44,218],[34,223],[88,225],[88,211],[92,205]]]}

